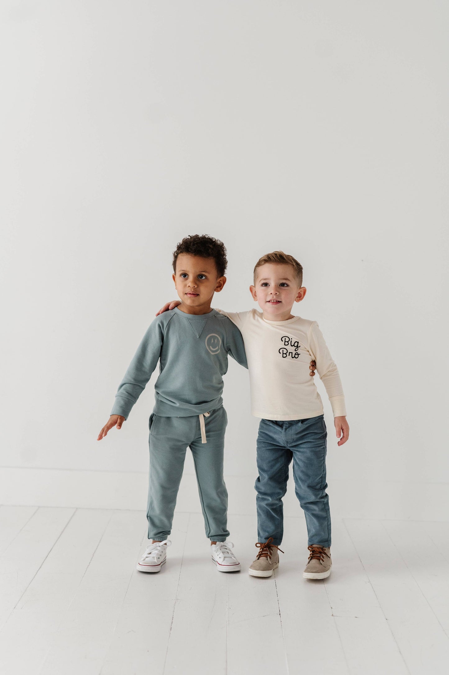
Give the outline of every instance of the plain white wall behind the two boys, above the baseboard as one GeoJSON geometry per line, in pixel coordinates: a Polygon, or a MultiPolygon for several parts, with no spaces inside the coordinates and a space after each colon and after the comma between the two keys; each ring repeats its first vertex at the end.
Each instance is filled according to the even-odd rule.
{"type": "MultiPolygon", "coordinates": [[[[269,250],[305,269],[298,313],[327,338],[351,427],[337,448],[326,404],[329,483],[399,481],[417,499],[447,483],[447,3],[0,11],[1,464],[147,470],[151,383],[122,431],[96,437],[176,297],[172,250],[207,233],[230,261],[216,306],[253,306],[269,250]]],[[[225,404],[226,473],[255,477],[233,362],[225,404]]]]}

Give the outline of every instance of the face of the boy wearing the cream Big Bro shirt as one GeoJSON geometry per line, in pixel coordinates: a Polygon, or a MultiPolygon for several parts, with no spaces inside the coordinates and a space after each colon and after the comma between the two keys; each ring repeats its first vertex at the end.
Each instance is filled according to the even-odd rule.
{"type": "Polygon", "coordinates": [[[281,263],[267,263],[257,269],[255,285],[250,286],[263,315],[273,321],[288,319],[294,302],[300,302],[306,294],[299,286],[294,268],[281,263]]]}

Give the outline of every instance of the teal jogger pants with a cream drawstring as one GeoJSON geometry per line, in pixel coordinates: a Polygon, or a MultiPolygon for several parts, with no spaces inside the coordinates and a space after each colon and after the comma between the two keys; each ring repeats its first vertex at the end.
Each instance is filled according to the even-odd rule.
{"type": "Polygon", "coordinates": [[[212,410],[205,416],[204,424],[206,443],[201,439],[198,415],[161,417],[153,413],[150,416],[149,539],[163,541],[171,533],[187,448],[192,451],[206,537],[211,541],[226,541],[229,537],[228,491],[223,479],[226,410],[212,410]]]}

